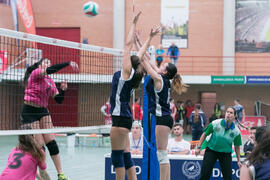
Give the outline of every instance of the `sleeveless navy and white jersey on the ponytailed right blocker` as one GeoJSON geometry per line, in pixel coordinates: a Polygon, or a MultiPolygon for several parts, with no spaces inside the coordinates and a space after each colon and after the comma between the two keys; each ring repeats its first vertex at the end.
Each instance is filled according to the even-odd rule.
{"type": "Polygon", "coordinates": [[[146,92],[148,95],[148,112],[155,116],[167,116],[171,115],[170,109],[170,80],[164,75],[162,77],[161,89],[155,90],[154,80],[151,78],[146,85],[146,92]]]}

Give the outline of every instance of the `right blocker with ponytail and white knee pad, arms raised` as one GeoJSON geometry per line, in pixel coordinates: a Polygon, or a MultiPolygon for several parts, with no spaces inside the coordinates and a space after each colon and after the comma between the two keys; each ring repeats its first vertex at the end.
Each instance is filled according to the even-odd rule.
{"type": "MultiPolygon", "coordinates": [[[[150,41],[147,41],[150,42],[150,41]]],[[[177,74],[177,68],[172,63],[163,63],[158,68],[148,58],[142,58],[142,64],[151,76],[146,91],[148,94],[148,113],[156,117],[156,142],[157,157],[160,165],[160,179],[170,179],[170,164],[167,157],[167,144],[170,130],[173,126],[173,119],[170,110],[170,87],[181,94],[187,90],[187,85],[177,74]]]]}

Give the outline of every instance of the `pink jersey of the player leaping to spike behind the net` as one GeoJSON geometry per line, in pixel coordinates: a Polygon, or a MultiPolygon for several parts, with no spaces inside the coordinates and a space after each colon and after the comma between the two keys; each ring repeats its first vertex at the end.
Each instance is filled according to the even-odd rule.
{"type": "Polygon", "coordinates": [[[24,91],[24,100],[47,108],[50,96],[58,93],[55,83],[48,75],[42,76],[41,69],[35,69],[24,91]]]}

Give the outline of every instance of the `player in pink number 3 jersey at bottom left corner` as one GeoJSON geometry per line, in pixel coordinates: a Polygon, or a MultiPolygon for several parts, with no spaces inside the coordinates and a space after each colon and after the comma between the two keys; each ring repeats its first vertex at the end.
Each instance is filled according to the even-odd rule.
{"type": "MultiPolygon", "coordinates": [[[[19,144],[11,150],[6,168],[0,180],[35,180],[37,167],[41,172],[46,169],[46,154],[34,141],[33,135],[20,135],[19,144]]],[[[42,179],[49,179],[44,176],[42,179]]]]}

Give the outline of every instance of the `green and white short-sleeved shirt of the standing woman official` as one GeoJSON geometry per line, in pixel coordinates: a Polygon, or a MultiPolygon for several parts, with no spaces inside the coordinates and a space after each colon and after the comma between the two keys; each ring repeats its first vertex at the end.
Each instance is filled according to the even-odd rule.
{"type": "Polygon", "coordinates": [[[232,152],[232,143],[234,146],[241,146],[241,132],[234,123],[227,127],[225,119],[218,119],[211,122],[205,129],[205,136],[212,133],[212,137],[208,142],[208,148],[217,152],[232,152]]]}

